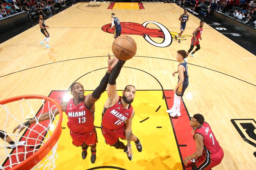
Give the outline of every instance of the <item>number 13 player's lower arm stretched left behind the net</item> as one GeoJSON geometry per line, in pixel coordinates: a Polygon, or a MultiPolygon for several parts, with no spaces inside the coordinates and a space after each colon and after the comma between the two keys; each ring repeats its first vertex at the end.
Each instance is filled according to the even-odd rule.
{"type": "MultiPolygon", "coordinates": [[[[63,102],[63,103],[60,104],[60,107],[61,107],[62,111],[64,111],[64,112],[66,111],[67,106],[68,106],[68,102],[63,102]]],[[[54,117],[55,117],[56,115],[59,115],[59,109],[56,108],[52,113],[55,113],[55,114],[54,114],[54,117]]],[[[42,122],[42,121],[45,121],[45,120],[49,120],[50,118],[51,118],[51,117],[50,117],[49,112],[45,112],[45,113],[43,113],[42,115],[40,115],[39,118],[37,117],[37,119],[34,118],[34,119],[31,119],[31,120],[29,120],[29,121],[23,123],[23,126],[18,125],[16,128],[13,129],[13,132],[12,132],[12,133],[14,133],[17,129],[20,129],[20,131],[19,131],[19,133],[20,133],[23,129],[25,129],[26,126],[28,126],[28,125],[30,125],[30,124],[33,124],[33,123],[36,123],[36,122],[42,122]],[[36,120],[37,120],[37,121],[36,121],[36,120]]]]}

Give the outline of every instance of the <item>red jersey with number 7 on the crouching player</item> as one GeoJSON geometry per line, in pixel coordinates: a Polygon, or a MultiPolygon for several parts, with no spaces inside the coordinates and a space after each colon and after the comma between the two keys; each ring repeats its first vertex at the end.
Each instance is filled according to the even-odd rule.
{"type": "MultiPolygon", "coordinates": [[[[206,122],[203,123],[202,126],[200,126],[199,128],[197,128],[195,130],[195,134],[199,133],[200,135],[202,135],[204,137],[204,153],[205,154],[213,154],[213,153],[217,153],[220,151],[220,144],[219,142],[216,140],[212,129],[210,127],[210,125],[206,122]]],[[[195,139],[195,134],[194,134],[194,139],[195,139]]]]}

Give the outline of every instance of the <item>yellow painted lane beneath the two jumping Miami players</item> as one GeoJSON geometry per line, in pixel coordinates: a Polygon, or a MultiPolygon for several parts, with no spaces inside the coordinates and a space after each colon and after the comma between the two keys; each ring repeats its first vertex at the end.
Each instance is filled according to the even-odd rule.
{"type": "MultiPolygon", "coordinates": [[[[91,93],[86,91],[85,93],[91,93]]],[[[121,91],[118,92],[121,95],[121,91]]],[[[129,161],[126,154],[122,150],[110,147],[104,141],[101,130],[97,129],[97,159],[94,164],[91,163],[91,152],[88,148],[86,159],[82,159],[81,147],[72,144],[67,127],[67,116],[64,115],[62,126],[66,129],[62,130],[58,142],[56,166],[58,169],[89,169],[99,166],[114,166],[124,169],[182,169],[180,156],[172,131],[171,122],[168,114],[165,113],[166,104],[162,100],[162,91],[137,91],[132,107],[135,110],[135,116],[132,120],[132,133],[136,135],[142,144],[142,152],[136,150],[134,142],[132,142],[133,159],[129,161]],[[156,112],[156,109],[161,108],[156,112]],[[149,117],[144,122],[145,118],[149,117]],[[162,128],[156,128],[162,126],[162,128]]],[[[104,92],[100,100],[96,102],[94,125],[100,127],[101,113],[103,105],[107,99],[107,92],[104,92]]],[[[65,114],[65,113],[63,113],[65,114]]],[[[126,144],[126,141],[121,140],[126,144]]]]}

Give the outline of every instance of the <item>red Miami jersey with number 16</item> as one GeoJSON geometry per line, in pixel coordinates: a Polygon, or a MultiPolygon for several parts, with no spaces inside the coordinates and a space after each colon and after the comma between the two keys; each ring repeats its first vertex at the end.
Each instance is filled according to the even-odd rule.
{"type": "Polygon", "coordinates": [[[108,130],[116,130],[125,126],[125,121],[132,115],[132,105],[127,109],[123,108],[121,96],[119,100],[112,107],[103,109],[102,112],[102,126],[108,130]]]}

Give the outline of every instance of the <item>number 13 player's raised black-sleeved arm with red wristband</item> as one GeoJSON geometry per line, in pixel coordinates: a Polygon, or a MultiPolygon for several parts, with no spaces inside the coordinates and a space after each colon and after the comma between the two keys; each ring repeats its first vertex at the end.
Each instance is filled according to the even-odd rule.
{"type": "Polygon", "coordinates": [[[118,62],[118,59],[116,57],[111,58],[110,54],[108,53],[108,70],[105,74],[105,76],[101,79],[100,85],[90,94],[88,94],[85,97],[84,103],[85,105],[91,110],[95,110],[95,102],[100,99],[100,96],[103,92],[105,92],[107,85],[108,85],[108,79],[111,74],[111,71],[116,66],[116,63],[118,62]]]}

